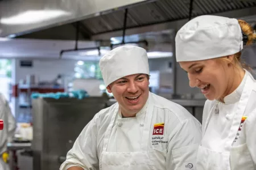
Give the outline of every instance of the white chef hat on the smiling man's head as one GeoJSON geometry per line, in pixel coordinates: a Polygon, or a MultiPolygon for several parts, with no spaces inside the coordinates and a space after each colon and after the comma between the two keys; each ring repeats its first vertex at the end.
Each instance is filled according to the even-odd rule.
{"type": "Polygon", "coordinates": [[[100,69],[105,86],[123,76],[149,75],[147,52],[138,46],[119,46],[100,59],[100,69]]]}

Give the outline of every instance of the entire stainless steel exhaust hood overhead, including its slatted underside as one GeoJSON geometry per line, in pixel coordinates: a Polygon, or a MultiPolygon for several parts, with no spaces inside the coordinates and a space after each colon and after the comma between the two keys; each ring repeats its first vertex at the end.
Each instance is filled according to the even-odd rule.
{"type": "Polygon", "coordinates": [[[122,36],[125,8],[133,35],[178,29],[199,15],[253,16],[256,0],[0,0],[0,37],[71,40],[79,21],[81,38],[109,40],[122,36]]]}

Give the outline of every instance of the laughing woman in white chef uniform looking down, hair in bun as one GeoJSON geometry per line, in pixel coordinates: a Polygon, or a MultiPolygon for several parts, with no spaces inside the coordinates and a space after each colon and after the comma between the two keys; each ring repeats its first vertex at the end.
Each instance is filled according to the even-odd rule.
{"type": "Polygon", "coordinates": [[[208,99],[199,170],[256,169],[256,82],[241,61],[255,40],[245,21],[221,16],[199,16],[177,32],[177,62],[208,99]]]}

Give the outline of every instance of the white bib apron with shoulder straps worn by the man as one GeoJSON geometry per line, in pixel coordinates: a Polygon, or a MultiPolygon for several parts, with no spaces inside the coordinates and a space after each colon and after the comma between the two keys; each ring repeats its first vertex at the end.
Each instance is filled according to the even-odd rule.
{"type": "MultiPolygon", "coordinates": [[[[118,109],[117,109],[118,110],[118,109]]],[[[141,150],[138,152],[107,152],[110,133],[112,131],[115,117],[118,112],[113,114],[112,120],[106,130],[104,137],[103,150],[100,158],[100,170],[154,170],[148,155],[148,140],[150,138],[150,127],[153,113],[153,101],[149,100],[147,112],[143,125],[143,136],[141,150]]]]}

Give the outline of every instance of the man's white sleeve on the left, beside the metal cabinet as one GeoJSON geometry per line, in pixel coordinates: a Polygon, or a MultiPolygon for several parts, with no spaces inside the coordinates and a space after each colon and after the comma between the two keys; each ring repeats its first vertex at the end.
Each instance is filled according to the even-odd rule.
{"type": "Polygon", "coordinates": [[[67,159],[61,164],[61,170],[70,167],[98,169],[96,116],[85,126],[72,149],[68,151],[67,159]]]}

